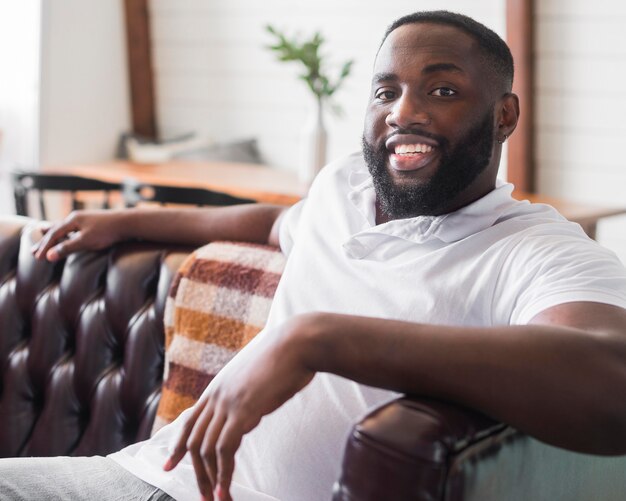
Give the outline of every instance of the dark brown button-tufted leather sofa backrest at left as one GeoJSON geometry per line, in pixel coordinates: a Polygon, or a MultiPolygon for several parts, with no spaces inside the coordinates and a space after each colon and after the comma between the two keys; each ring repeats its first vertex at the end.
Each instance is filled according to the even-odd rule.
{"type": "Polygon", "coordinates": [[[189,249],[125,244],[35,260],[29,220],[0,224],[0,456],[106,454],[149,436],[163,308],[189,249]]]}

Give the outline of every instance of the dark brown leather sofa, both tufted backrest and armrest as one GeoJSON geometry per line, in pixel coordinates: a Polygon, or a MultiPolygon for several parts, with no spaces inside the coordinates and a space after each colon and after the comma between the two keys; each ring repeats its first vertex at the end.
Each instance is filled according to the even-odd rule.
{"type": "MultiPolygon", "coordinates": [[[[128,243],[50,264],[31,256],[28,222],[0,220],[0,456],[106,454],[146,438],[167,289],[190,249],[128,243]]],[[[564,451],[455,405],[403,398],[355,424],[335,490],[319,499],[331,497],[623,500],[626,458],[564,451]]]]}

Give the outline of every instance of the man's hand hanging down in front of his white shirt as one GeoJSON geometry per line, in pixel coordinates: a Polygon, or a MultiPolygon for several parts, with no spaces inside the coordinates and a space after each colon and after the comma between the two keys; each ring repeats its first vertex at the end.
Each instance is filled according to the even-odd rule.
{"type": "Polygon", "coordinates": [[[231,499],[235,453],[243,436],[313,379],[307,325],[311,322],[295,318],[263,333],[220,372],[185,422],[165,470],[189,452],[203,498],[231,499]]]}

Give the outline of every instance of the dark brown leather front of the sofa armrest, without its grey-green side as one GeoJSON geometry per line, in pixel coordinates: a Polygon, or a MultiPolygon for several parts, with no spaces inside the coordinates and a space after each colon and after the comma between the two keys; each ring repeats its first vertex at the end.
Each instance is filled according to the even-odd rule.
{"type": "Polygon", "coordinates": [[[333,499],[444,499],[450,457],[508,433],[503,424],[444,402],[398,399],[352,429],[333,499]]]}

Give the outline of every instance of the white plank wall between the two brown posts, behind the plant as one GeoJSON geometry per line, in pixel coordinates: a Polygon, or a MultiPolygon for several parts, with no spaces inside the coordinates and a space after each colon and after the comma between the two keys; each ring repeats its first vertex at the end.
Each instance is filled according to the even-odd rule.
{"type": "MultiPolygon", "coordinates": [[[[296,63],[279,63],[264,49],[264,26],[310,36],[321,30],[337,66],[355,59],[338,92],[345,117],[330,117],[329,158],[360,148],[371,67],[394,19],[440,9],[434,0],[152,0],[152,34],[159,125],[166,134],[197,131],[215,140],[257,137],[270,165],[296,170],[298,136],[309,112],[308,89],[296,63]]],[[[501,35],[503,0],[450,0],[501,35]]]]}

